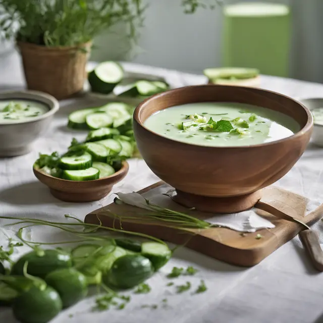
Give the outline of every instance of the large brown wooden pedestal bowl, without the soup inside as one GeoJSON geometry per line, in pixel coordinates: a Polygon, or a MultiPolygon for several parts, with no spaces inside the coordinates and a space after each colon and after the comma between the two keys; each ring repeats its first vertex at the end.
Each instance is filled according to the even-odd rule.
{"type": "Polygon", "coordinates": [[[252,207],[261,188],[283,177],[309,142],[313,119],[300,102],[252,87],[187,86],[141,102],[134,112],[134,135],[148,167],[176,188],[175,200],[202,211],[237,212],[252,207]],[[263,144],[239,147],[198,146],[162,137],[143,123],[153,113],[179,104],[239,102],[263,106],[295,119],[301,130],[263,144]]]}

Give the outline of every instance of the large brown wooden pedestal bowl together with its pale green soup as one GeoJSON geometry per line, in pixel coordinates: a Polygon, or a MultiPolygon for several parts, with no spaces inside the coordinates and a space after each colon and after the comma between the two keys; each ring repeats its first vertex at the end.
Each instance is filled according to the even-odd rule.
{"type": "Polygon", "coordinates": [[[202,211],[252,207],[304,152],[313,119],[300,102],[257,88],[201,85],[160,93],[134,112],[148,167],[202,211]]]}

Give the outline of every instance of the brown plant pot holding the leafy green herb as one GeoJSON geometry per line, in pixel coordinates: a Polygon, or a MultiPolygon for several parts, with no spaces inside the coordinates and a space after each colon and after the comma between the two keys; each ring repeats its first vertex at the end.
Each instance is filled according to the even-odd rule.
{"type": "Polygon", "coordinates": [[[83,89],[91,42],[73,47],[46,47],[18,42],[27,87],[57,99],[83,89]]]}

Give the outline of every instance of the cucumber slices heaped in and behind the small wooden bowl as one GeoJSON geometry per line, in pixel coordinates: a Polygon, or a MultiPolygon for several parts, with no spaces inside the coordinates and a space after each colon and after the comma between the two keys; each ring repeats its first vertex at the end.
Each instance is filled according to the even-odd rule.
{"type": "Polygon", "coordinates": [[[113,175],[121,169],[123,160],[134,155],[133,110],[128,104],[111,102],[71,113],[69,127],[92,129],[85,141],[73,139],[62,156],[57,152],[40,154],[34,167],[71,181],[91,181],[113,175]]]}

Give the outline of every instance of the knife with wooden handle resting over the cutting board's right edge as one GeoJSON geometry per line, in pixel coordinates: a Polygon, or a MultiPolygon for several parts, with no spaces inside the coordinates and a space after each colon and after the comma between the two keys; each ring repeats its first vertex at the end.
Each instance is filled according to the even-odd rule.
{"type": "Polygon", "coordinates": [[[290,216],[287,213],[282,212],[281,210],[270,204],[259,201],[255,205],[255,207],[271,213],[277,218],[300,224],[303,228],[299,232],[299,238],[303,244],[303,247],[306,250],[308,257],[316,270],[323,272],[323,250],[319,244],[318,234],[315,230],[312,230],[304,222],[290,216]]]}

